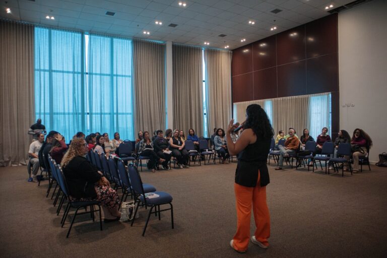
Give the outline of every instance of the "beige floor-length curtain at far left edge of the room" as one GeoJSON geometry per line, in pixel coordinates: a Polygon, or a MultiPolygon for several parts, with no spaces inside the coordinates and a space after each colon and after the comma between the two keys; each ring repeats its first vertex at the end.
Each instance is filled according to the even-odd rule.
{"type": "Polygon", "coordinates": [[[34,123],[34,26],[0,20],[0,166],[24,165],[34,123]]]}

